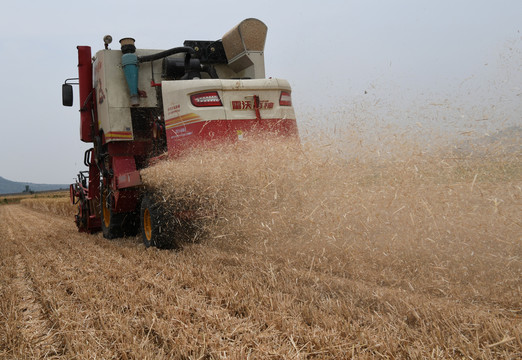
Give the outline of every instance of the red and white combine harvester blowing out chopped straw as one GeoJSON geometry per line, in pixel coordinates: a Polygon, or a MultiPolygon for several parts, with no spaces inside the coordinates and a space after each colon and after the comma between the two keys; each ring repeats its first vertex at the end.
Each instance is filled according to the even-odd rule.
{"type": "Polygon", "coordinates": [[[78,46],[79,78],[67,79],[62,95],[72,106],[79,84],[80,139],[93,143],[89,169],[70,186],[79,231],[113,239],[141,228],[145,246],[169,247],[172,222],[143,186],[142,169],[258,134],[297,139],[288,81],[265,78],[266,33],[263,22],[246,19],[220,40],[164,51],[137,49],[132,38],[111,50],[109,35],[94,57],[78,46]]]}

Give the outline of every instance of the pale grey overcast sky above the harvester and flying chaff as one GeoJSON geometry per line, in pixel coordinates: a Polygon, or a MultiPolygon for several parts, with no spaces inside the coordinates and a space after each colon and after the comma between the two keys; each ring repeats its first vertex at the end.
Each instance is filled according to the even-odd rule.
{"type": "Polygon", "coordinates": [[[298,123],[357,117],[357,104],[435,122],[419,112],[441,103],[522,123],[521,0],[18,1],[0,13],[0,176],[70,183],[84,170],[78,103],[61,105],[77,45],[95,52],[110,34],[113,48],[130,36],[167,49],[249,17],[268,26],[266,74],[290,81],[298,123]]]}

